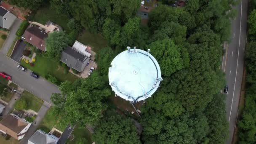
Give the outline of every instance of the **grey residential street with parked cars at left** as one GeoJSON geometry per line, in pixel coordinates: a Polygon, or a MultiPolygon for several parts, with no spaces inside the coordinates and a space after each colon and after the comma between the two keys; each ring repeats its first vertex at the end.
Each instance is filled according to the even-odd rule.
{"type": "Polygon", "coordinates": [[[18,63],[6,57],[2,51],[0,52],[0,71],[11,75],[11,81],[19,85],[21,88],[24,88],[40,99],[52,104],[50,100],[51,94],[60,93],[59,88],[42,77],[36,79],[30,76],[31,71],[29,69],[27,72],[23,72],[19,70],[17,66],[18,63]]]}

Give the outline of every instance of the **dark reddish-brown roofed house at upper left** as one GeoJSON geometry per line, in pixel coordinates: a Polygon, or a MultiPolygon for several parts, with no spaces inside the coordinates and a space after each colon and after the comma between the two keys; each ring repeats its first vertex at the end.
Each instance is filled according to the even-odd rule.
{"type": "Polygon", "coordinates": [[[45,38],[48,37],[48,34],[43,30],[35,27],[29,26],[24,34],[22,35],[22,40],[34,45],[42,51],[46,51],[45,47],[45,38]]]}

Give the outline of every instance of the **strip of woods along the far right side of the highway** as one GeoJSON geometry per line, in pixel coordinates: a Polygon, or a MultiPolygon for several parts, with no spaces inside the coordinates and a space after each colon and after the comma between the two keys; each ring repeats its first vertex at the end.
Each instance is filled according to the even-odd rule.
{"type": "Polygon", "coordinates": [[[245,105],[238,122],[239,143],[256,143],[256,1],[249,1],[248,42],[245,50],[245,105]]]}

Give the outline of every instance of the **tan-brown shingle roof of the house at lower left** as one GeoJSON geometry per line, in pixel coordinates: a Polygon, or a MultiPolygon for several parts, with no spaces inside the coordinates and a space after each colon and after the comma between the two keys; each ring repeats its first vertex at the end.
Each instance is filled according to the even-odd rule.
{"type": "Polygon", "coordinates": [[[0,121],[0,130],[4,131],[13,138],[18,139],[18,134],[28,125],[29,123],[21,120],[16,115],[9,114],[0,121]]]}

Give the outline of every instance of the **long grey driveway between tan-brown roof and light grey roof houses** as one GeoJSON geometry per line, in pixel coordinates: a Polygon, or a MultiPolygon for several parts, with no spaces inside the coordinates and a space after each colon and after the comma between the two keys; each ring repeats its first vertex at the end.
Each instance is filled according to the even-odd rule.
{"type": "Polygon", "coordinates": [[[37,113],[37,117],[33,121],[32,125],[30,126],[29,130],[25,134],[24,138],[21,139],[20,144],[27,144],[29,138],[37,131],[38,126],[40,125],[41,121],[43,120],[43,117],[45,116],[47,110],[51,107],[50,104],[47,102],[44,102],[42,107],[39,109],[39,112],[37,113]]]}

